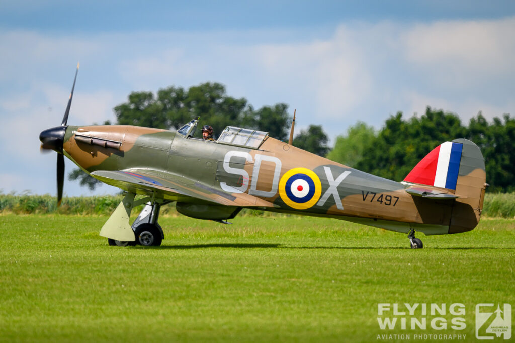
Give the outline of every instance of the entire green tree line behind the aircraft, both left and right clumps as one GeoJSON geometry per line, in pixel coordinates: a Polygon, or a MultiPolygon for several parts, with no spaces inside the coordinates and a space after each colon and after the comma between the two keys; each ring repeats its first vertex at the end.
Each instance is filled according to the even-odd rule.
{"type": "MultiPolygon", "coordinates": [[[[266,131],[284,141],[291,125],[287,104],[254,109],[245,98],[228,96],[224,85],[209,82],[188,89],[171,86],[157,94],[132,92],[127,102],[114,107],[114,114],[115,124],[161,129],[177,129],[200,116],[201,123],[211,125],[215,134],[233,125],[266,131]]],[[[200,130],[196,135],[200,137],[200,130]]],[[[328,146],[329,138],[322,126],[310,124],[294,137],[293,145],[349,167],[401,181],[428,152],[454,138],[467,138],[479,146],[485,157],[490,191],[515,190],[515,118],[508,114],[488,122],[479,113],[464,125],[455,114],[427,107],[420,117],[404,118],[401,112],[392,115],[379,130],[358,121],[337,136],[333,149],[328,146]]],[[[99,184],[80,169],[72,171],[70,179],[78,179],[90,189],[99,184]]]]}

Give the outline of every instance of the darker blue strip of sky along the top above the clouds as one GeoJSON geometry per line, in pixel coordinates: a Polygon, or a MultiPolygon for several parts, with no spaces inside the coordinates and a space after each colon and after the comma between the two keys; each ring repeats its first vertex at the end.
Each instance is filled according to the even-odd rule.
{"type": "Polygon", "coordinates": [[[335,26],[345,21],[494,19],[512,1],[4,1],[6,28],[105,32],[335,26]]]}

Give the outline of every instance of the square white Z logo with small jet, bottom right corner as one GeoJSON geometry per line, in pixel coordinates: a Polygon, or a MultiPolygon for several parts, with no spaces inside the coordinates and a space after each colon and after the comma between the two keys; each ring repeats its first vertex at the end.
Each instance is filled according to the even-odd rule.
{"type": "Polygon", "coordinates": [[[494,339],[501,336],[511,338],[511,305],[477,304],[476,338],[494,339]]]}

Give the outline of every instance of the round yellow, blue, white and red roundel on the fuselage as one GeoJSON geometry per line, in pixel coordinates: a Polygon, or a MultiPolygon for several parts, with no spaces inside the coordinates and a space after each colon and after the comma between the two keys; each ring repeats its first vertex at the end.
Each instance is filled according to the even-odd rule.
{"type": "Polygon", "coordinates": [[[279,180],[279,196],[297,210],[313,207],[322,194],[320,178],[307,168],[288,170],[279,180]]]}

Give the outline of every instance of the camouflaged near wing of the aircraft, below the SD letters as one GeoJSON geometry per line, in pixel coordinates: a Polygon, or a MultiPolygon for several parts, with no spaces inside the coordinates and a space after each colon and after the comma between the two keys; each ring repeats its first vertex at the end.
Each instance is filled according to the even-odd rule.
{"type": "Polygon", "coordinates": [[[127,192],[149,196],[157,193],[167,200],[238,207],[275,207],[272,203],[247,193],[224,192],[187,177],[155,170],[97,170],[91,176],[127,192]]]}

